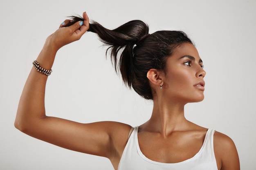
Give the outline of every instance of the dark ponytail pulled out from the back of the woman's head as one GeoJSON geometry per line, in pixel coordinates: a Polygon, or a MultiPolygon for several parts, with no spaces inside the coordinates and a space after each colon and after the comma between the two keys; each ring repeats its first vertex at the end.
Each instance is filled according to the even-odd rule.
{"type": "Polygon", "coordinates": [[[109,30],[97,22],[90,24],[88,31],[97,33],[100,40],[109,45],[112,63],[115,71],[121,72],[122,79],[128,87],[131,87],[133,79],[133,46],[141,37],[148,34],[148,26],[140,21],[133,20],[119,26],[117,29],[109,30]],[[121,53],[119,55],[119,53],[121,53]]]}

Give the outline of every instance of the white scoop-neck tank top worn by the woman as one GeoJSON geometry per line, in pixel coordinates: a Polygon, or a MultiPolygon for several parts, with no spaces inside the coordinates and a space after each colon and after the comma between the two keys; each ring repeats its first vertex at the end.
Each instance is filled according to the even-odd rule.
{"type": "Polygon", "coordinates": [[[215,130],[207,130],[202,147],[192,158],[178,163],[161,163],[143,155],[139,148],[138,129],[135,127],[128,139],[118,170],[218,170],[213,150],[215,130]]]}

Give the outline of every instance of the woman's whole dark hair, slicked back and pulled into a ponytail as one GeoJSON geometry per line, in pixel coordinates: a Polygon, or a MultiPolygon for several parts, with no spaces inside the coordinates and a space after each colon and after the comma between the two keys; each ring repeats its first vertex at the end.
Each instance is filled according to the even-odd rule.
{"type": "MultiPolygon", "coordinates": [[[[74,22],[83,20],[76,16],[72,19],[74,22]]],[[[124,83],[145,99],[153,99],[148,71],[151,68],[164,71],[166,60],[175,48],[184,42],[193,44],[182,31],[148,34],[148,25],[140,20],[129,21],[113,30],[93,21],[88,31],[97,33],[103,43],[110,45],[106,54],[110,50],[115,71],[120,71],[124,83]]]]}

